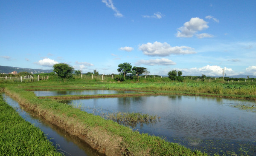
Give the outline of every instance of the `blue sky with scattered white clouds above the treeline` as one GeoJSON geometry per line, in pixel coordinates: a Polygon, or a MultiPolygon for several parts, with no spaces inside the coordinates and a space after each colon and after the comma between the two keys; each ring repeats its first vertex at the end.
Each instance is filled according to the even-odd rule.
{"type": "Polygon", "coordinates": [[[1,0],[0,65],[256,75],[255,0],[1,0]]]}

